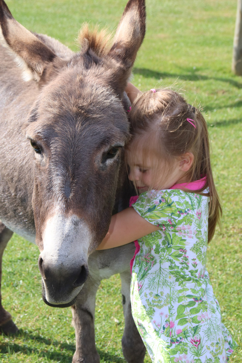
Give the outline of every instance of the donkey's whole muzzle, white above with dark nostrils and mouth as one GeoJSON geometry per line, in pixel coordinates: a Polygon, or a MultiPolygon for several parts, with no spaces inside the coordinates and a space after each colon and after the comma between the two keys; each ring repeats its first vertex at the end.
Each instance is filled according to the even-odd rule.
{"type": "Polygon", "coordinates": [[[46,220],[42,240],[38,266],[44,298],[52,305],[69,304],[87,279],[93,234],[78,216],[56,213],[46,220]]]}

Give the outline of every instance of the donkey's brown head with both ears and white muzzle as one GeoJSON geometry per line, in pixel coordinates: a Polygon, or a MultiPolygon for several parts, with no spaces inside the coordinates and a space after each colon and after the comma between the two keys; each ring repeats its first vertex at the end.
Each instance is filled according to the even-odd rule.
{"type": "MultiPolygon", "coordinates": [[[[69,306],[108,231],[129,125],[122,98],[145,33],[144,0],[130,0],[110,48],[85,28],[64,60],[0,0],[0,38],[40,92],[25,123],[34,149],[33,211],[43,298],[69,306]]],[[[127,106],[126,106],[127,107],[127,106]]],[[[128,107],[127,107],[128,108],[128,107]]]]}

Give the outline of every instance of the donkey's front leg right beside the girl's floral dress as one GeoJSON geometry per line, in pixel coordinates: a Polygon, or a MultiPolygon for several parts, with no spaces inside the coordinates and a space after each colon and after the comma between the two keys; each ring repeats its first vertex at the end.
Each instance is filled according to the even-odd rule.
{"type": "Polygon", "coordinates": [[[130,302],[130,270],[120,273],[122,281],[122,295],[123,295],[123,313],[124,313],[124,333],[122,338],[123,356],[128,363],[142,363],[146,348],[136,328],[134,319],[131,312],[130,302]]]}

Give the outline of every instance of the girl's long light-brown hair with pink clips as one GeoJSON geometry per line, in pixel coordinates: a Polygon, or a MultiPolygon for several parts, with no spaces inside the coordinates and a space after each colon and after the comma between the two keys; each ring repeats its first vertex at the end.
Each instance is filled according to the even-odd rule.
{"type": "MultiPolygon", "coordinates": [[[[220,224],[222,209],[213,181],[208,127],[201,112],[186,103],[175,91],[161,89],[155,93],[153,91],[140,93],[132,104],[129,117],[133,135],[130,147],[132,151],[136,147],[140,149],[142,140],[143,157],[149,155],[152,160],[157,160],[154,168],[157,174],[161,173],[158,164],[161,158],[163,166],[165,163],[168,170],[174,164],[174,160],[182,154],[191,152],[194,155],[192,166],[187,172],[187,179],[190,182],[206,176],[204,187],[192,192],[210,197],[208,225],[208,242],[210,242],[216,224],[220,224]],[[209,192],[206,189],[209,189],[209,192]]],[[[132,166],[132,160],[129,160],[129,163],[132,166]]]]}

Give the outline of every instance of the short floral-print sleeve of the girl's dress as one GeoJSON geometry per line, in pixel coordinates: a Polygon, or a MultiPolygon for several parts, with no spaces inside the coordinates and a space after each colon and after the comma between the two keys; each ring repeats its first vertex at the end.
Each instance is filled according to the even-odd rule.
{"type": "Polygon", "coordinates": [[[135,211],[149,223],[163,230],[172,230],[180,218],[173,191],[156,191],[142,193],[135,204],[135,211]]]}

